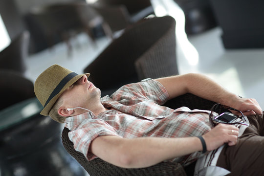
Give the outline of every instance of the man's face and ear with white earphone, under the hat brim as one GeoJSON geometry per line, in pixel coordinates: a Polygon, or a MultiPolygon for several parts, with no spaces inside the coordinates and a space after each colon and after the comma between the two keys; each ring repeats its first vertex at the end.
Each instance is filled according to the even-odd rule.
{"type": "Polygon", "coordinates": [[[63,105],[67,108],[83,107],[90,109],[100,103],[100,95],[100,89],[89,82],[87,76],[84,75],[67,88],[61,97],[63,98],[63,105]]]}

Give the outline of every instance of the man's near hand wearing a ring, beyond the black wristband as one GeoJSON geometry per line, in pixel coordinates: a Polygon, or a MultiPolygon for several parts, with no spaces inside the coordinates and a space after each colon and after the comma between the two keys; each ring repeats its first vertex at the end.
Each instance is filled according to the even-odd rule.
{"type": "Polygon", "coordinates": [[[208,151],[219,148],[224,143],[233,146],[237,143],[239,129],[234,125],[218,124],[210,132],[202,137],[205,140],[208,151]]]}

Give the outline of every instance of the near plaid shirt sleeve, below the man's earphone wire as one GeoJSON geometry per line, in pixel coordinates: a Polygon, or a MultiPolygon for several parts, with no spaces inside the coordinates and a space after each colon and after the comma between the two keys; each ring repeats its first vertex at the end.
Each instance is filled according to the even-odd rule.
{"type": "Polygon", "coordinates": [[[91,142],[100,135],[117,135],[117,132],[102,119],[86,119],[76,130],[68,133],[74,149],[90,161],[97,156],[88,152],[91,142]],[[87,122],[89,121],[89,122],[87,122]]]}

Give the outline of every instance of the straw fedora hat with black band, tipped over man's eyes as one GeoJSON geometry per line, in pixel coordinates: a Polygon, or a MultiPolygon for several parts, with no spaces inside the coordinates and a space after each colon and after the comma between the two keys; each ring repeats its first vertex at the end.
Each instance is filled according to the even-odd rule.
{"type": "Polygon", "coordinates": [[[48,115],[63,91],[84,75],[89,77],[90,74],[77,74],[57,64],[44,70],[36,79],[34,85],[35,94],[44,107],[40,114],[48,115]]]}

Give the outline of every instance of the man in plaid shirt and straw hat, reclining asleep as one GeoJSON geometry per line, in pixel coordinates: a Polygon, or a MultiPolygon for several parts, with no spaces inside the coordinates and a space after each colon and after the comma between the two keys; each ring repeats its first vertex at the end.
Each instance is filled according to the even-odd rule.
{"type": "MultiPolygon", "coordinates": [[[[34,86],[44,106],[41,114],[66,123],[74,148],[88,160],[100,157],[120,167],[140,168],[170,159],[188,165],[200,158],[196,173],[201,175],[208,175],[207,166],[217,166],[213,171],[225,175],[229,171],[238,174],[247,168],[245,163],[251,168],[263,163],[262,116],[256,115],[262,114],[262,109],[255,99],[240,98],[199,74],[146,79],[101,98],[100,89],[88,81],[88,76],[89,73],[78,75],[53,65],[37,78],[34,86]],[[160,106],[188,92],[251,115],[249,121],[254,126],[219,124],[212,128],[206,110],[160,106]],[[241,131],[245,132],[238,138],[241,131]],[[243,157],[253,156],[253,150],[260,153],[252,161],[243,157]],[[247,153],[236,156],[243,151],[247,153]],[[212,153],[216,161],[205,166],[206,157],[212,153]],[[223,169],[217,170],[219,166],[223,169]]],[[[260,172],[264,173],[260,169],[255,173],[260,172]]]]}

